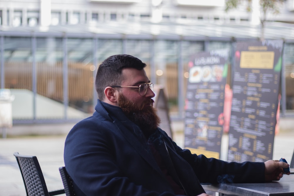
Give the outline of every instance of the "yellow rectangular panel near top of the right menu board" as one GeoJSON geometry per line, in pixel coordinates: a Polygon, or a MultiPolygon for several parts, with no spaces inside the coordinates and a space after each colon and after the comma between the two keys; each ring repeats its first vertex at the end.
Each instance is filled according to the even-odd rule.
{"type": "Polygon", "coordinates": [[[240,68],[273,69],[273,51],[241,51],[240,68]]]}

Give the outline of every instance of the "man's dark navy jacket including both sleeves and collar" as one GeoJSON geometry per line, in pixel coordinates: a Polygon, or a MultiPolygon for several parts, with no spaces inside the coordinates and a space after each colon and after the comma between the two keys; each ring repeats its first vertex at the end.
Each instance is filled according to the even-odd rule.
{"type": "MultiPolygon", "coordinates": [[[[140,128],[119,107],[98,100],[95,109],[72,128],[65,142],[65,167],[78,195],[175,195],[140,128]]],[[[264,163],[228,163],[191,154],[160,128],[151,138],[187,195],[205,192],[200,183],[264,182],[264,163]]]]}

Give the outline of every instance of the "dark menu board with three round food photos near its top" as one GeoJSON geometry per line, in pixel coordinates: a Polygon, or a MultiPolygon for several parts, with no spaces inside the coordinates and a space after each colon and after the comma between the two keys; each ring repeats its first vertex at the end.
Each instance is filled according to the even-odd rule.
{"type": "Polygon", "coordinates": [[[189,62],[185,148],[220,158],[228,50],[198,53],[189,62]]]}

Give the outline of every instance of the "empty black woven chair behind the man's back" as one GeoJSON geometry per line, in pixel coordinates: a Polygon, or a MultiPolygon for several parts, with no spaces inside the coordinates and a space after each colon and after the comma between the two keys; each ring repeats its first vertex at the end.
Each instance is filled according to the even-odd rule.
{"type": "Polygon", "coordinates": [[[64,189],[48,192],[45,179],[36,156],[13,154],[21,171],[27,196],[51,196],[64,194],[64,189]]]}

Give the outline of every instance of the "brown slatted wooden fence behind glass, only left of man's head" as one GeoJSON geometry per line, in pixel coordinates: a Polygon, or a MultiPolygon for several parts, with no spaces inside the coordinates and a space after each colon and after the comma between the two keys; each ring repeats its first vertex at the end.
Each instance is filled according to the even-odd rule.
{"type": "MultiPolygon", "coordinates": [[[[91,65],[82,63],[68,64],[69,101],[93,99],[93,72],[91,65]]],[[[62,62],[36,64],[37,93],[45,97],[63,100],[62,62]]],[[[5,88],[24,88],[32,91],[32,64],[28,62],[5,63],[5,88]]]]}

